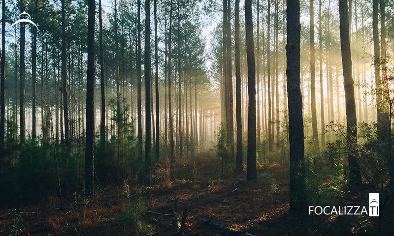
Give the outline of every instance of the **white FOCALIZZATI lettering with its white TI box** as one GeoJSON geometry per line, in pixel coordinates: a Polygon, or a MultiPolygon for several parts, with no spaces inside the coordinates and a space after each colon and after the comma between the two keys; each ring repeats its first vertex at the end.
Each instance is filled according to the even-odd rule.
{"type": "Polygon", "coordinates": [[[368,211],[365,206],[309,206],[309,214],[379,216],[379,193],[370,193],[368,200],[368,211]]]}

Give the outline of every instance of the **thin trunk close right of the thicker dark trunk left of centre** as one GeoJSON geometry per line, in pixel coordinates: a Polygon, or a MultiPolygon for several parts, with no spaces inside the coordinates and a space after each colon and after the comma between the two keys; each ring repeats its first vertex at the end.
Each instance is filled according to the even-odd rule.
{"type": "Polygon", "coordinates": [[[156,158],[160,154],[160,106],[159,106],[159,61],[158,61],[158,39],[157,39],[157,0],[153,1],[155,17],[155,90],[156,90],[156,158]]]}

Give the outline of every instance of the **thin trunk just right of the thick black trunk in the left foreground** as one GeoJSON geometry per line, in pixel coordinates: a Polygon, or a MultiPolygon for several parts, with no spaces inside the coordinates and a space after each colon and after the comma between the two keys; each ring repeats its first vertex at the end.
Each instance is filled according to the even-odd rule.
{"type": "Polygon", "coordinates": [[[104,55],[102,46],[102,17],[101,0],[99,0],[99,47],[100,47],[100,89],[101,89],[101,119],[100,119],[100,145],[105,147],[105,81],[104,81],[104,55]]]}

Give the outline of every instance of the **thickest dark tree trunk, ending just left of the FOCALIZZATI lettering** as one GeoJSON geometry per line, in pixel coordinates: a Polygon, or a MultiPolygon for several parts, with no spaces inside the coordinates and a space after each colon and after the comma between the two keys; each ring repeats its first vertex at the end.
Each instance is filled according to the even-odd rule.
{"type": "Polygon", "coordinates": [[[302,95],[300,90],[300,23],[299,0],[286,1],[287,45],[286,76],[289,103],[290,144],[290,211],[306,209],[304,184],[304,130],[302,121],[302,95]]]}

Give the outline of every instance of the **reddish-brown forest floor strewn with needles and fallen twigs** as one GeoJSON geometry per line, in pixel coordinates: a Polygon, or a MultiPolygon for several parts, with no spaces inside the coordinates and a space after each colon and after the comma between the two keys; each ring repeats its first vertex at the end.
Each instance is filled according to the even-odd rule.
{"type": "MultiPolygon", "coordinates": [[[[123,185],[105,189],[94,200],[74,195],[68,201],[64,198],[62,203],[52,198],[46,204],[19,206],[13,211],[1,209],[0,235],[132,236],[135,227],[147,228],[148,224],[151,232],[156,233],[151,235],[181,235],[176,233],[179,227],[188,236],[332,232],[324,222],[335,219],[288,213],[286,168],[275,162],[260,167],[258,182],[245,181],[246,173],[236,174],[230,168],[224,172],[222,177],[220,162],[213,152],[206,152],[195,162],[177,163],[171,171],[173,181],[139,186],[138,194],[129,184],[137,180],[129,179],[123,185]],[[138,213],[133,209],[141,210],[138,213]]],[[[371,225],[364,227],[370,229],[371,225]]],[[[364,228],[353,228],[332,233],[366,232],[364,228]]]]}

